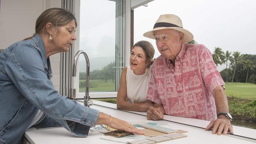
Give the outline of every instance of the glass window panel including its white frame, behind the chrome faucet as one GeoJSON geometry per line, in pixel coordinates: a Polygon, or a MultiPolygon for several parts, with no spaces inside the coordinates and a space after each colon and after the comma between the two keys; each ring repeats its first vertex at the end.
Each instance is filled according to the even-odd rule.
{"type": "MultiPolygon", "coordinates": [[[[125,0],[80,0],[80,38],[76,41],[79,41],[79,48],[75,50],[83,50],[89,57],[90,98],[117,96],[121,71],[126,62],[125,26],[130,26],[126,25],[125,6],[125,0]]],[[[77,66],[74,89],[76,98],[83,98],[86,61],[82,55],[77,66]]]]}

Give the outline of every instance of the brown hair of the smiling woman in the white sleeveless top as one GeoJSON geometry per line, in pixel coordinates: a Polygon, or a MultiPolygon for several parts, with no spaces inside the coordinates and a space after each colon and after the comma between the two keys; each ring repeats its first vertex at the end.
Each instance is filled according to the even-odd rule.
{"type": "Polygon", "coordinates": [[[150,66],[153,63],[153,57],[155,54],[155,50],[154,50],[154,46],[148,42],[148,41],[138,41],[134,44],[134,46],[132,47],[132,50],[134,49],[135,46],[139,46],[143,49],[143,51],[146,54],[146,62],[150,61],[150,63],[147,65],[147,73],[148,73],[148,69],[150,68],[150,66]]]}

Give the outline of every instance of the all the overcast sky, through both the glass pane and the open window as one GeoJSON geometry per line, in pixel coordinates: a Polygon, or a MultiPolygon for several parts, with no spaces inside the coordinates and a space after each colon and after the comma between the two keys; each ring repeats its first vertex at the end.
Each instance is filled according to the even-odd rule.
{"type": "MultiPolygon", "coordinates": [[[[114,56],[115,2],[81,0],[80,11],[80,49],[89,59],[114,56]]],[[[155,58],[160,55],[155,41],[143,33],[152,30],[162,14],[178,15],[195,41],[211,52],[220,47],[224,52],[256,54],[256,0],[154,0],[147,7],[134,9],[134,43],[152,42],[155,58]]]]}

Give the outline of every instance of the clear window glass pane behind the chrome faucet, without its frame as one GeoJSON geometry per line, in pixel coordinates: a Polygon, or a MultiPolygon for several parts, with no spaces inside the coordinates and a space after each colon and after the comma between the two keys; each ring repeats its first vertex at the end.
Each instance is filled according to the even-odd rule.
{"type": "MultiPolygon", "coordinates": [[[[80,1],[80,50],[89,57],[89,91],[116,90],[116,5],[111,0],[80,1]]],[[[118,63],[122,63],[119,62],[118,63]]],[[[79,92],[85,92],[86,62],[80,57],[79,92]]],[[[117,79],[119,81],[119,79],[117,79]]]]}

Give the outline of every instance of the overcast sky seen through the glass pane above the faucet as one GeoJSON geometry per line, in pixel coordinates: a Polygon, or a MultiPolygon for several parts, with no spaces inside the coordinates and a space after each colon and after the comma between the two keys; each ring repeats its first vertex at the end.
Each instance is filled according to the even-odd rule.
{"type": "Polygon", "coordinates": [[[89,59],[115,56],[115,2],[80,1],[80,50],[89,59]]]}

